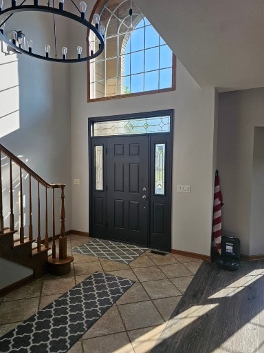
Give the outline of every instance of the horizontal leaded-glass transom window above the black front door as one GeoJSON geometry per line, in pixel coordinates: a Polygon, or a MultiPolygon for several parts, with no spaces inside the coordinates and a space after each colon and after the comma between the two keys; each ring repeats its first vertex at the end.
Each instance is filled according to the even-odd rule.
{"type": "Polygon", "coordinates": [[[170,131],[170,117],[148,117],[94,123],[93,136],[151,134],[170,131]]]}

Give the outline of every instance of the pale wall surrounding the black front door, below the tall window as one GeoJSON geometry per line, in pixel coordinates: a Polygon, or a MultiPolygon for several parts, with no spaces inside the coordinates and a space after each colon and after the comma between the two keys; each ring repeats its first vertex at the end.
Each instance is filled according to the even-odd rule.
{"type": "Polygon", "coordinates": [[[172,248],[210,255],[214,90],[203,90],[177,61],[177,90],[87,103],[86,65],[72,65],[72,228],[88,232],[88,118],[173,108],[172,248]],[[191,192],[178,193],[177,184],[191,192]],[[76,211],[78,210],[78,211],[76,211]]]}

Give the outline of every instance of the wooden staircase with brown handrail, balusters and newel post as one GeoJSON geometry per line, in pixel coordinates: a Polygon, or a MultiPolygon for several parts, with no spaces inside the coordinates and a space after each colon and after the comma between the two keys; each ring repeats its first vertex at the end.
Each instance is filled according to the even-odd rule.
{"type": "Polygon", "coordinates": [[[70,271],[73,257],[67,256],[64,189],[65,184],[47,183],[0,143],[0,257],[31,268],[34,279],[43,276],[47,271],[57,275],[70,271]],[[17,171],[17,178],[13,178],[14,169],[17,171]],[[16,208],[17,212],[14,212],[14,188],[19,188],[18,201],[15,203],[19,208],[19,210],[16,208]],[[61,190],[61,232],[58,253],[55,243],[57,189],[61,190]],[[42,228],[41,214],[45,219],[42,228]],[[36,232],[33,230],[33,224],[36,226],[36,232]],[[17,226],[17,230],[14,229],[14,225],[17,226]],[[52,250],[49,248],[48,225],[52,229],[52,250]],[[44,228],[42,240],[41,229],[44,228]],[[33,234],[36,234],[36,239],[33,234]]]}

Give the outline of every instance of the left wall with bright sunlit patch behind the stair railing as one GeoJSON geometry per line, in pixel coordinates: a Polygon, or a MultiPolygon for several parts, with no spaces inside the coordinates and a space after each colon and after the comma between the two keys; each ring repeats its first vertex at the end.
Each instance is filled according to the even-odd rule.
{"type": "MultiPolygon", "coordinates": [[[[34,36],[46,43],[46,26],[43,17],[30,14],[30,27],[39,25],[34,36]],[[33,18],[33,19],[32,19],[33,18]]],[[[17,28],[21,28],[18,19],[17,28]]],[[[27,23],[25,21],[25,23],[27,23]]],[[[12,25],[9,25],[12,28],[12,25]]],[[[6,26],[9,35],[10,28],[6,26]]],[[[14,27],[13,27],[14,28],[14,27]]],[[[28,33],[28,32],[26,32],[28,33]]],[[[33,34],[32,34],[33,35],[33,34]]],[[[64,36],[67,37],[65,30],[64,36]]],[[[29,39],[30,37],[28,37],[29,39]]],[[[49,43],[49,41],[47,41],[49,43]]],[[[38,42],[34,40],[34,48],[38,42]]],[[[39,44],[40,45],[40,44],[39,44]]],[[[0,43],[1,46],[1,43],[0,43]]],[[[48,183],[65,183],[66,230],[71,224],[71,139],[70,139],[70,87],[69,65],[48,63],[25,54],[6,55],[0,50],[0,143],[28,164],[48,183]]],[[[5,161],[2,161],[2,164],[5,161]]],[[[8,177],[8,166],[3,176],[8,177]]],[[[16,177],[14,167],[14,177],[16,177]]],[[[25,176],[24,176],[25,177],[25,176]]],[[[16,229],[19,227],[18,190],[14,183],[14,212],[16,229]]],[[[3,180],[5,226],[8,226],[9,180],[3,180]]],[[[56,192],[56,233],[60,232],[60,190],[56,192]]],[[[28,180],[23,182],[23,194],[28,199],[28,180]]],[[[42,195],[43,196],[43,195],[42,195]]],[[[35,194],[36,197],[36,194],[35,194]]],[[[44,197],[42,199],[44,201],[44,197]]],[[[51,210],[51,203],[50,203],[51,210]]],[[[28,234],[28,210],[25,212],[25,234],[28,234]]],[[[45,210],[41,210],[41,236],[45,234],[45,210]]],[[[36,238],[36,199],[33,206],[34,238],[36,238]]],[[[50,219],[51,223],[51,219],[50,219]]],[[[51,225],[51,224],[50,224],[51,225]]],[[[51,227],[50,236],[52,235],[51,227]]]]}

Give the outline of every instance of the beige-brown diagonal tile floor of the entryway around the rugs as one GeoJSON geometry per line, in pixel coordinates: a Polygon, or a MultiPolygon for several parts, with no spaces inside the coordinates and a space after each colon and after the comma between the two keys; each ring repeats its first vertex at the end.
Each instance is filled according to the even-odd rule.
{"type": "MultiPolygon", "coordinates": [[[[67,236],[67,249],[87,243],[84,236],[67,236]]],[[[0,336],[74,287],[89,274],[104,271],[136,283],[90,328],[70,353],[147,353],[155,345],[202,261],[144,252],[129,265],[94,256],[73,254],[65,276],[46,274],[0,298],[0,336]]],[[[44,352],[43,352],[44,353],[44,352]]]]}

